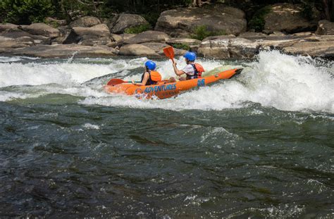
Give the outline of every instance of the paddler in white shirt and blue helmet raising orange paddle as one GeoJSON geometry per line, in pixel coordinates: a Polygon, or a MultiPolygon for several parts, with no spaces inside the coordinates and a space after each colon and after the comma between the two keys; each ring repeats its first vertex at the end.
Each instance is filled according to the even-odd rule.
{"type": "MultiPolygon", "coordinates": [[[[194,61],[196,60],[196,54],[194,54],[192,51],[187,51],[183,55],[183,57],[185,57],[185,63],[187,63],[187,65],[185,65],[185,68],[183,68],[182,70],[178,70],[178,68],[176,68],[176,62],[173,63],[173,68],[174,68],[174,72],[176,75],[178,76],[181,76],[184,74],[186,75],[186,77],[180,77],[180,80],[191,80],[191,79],[201,77],[202,72],[199,73],[199,71],[197,70],[197,65],[199,66],[199,64],[194,63],[194,61]]],[[[171,80],[175,80],[175,79],[171,78],[171,80]]]]}

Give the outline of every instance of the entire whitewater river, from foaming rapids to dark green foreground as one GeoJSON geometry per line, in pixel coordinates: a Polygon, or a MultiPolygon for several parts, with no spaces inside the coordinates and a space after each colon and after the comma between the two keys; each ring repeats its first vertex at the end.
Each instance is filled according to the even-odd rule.
{"type": "Polygon", "coordinates": [[[104,92],[146,60],[0,57],[0,218],[334,218],[333,61],[200,59],[244,70],[171,99],[104,92]]]}

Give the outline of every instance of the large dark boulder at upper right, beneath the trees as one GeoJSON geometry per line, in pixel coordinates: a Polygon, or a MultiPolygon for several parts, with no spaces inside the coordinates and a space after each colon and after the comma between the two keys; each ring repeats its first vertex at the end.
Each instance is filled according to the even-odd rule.
{"type": "Polygon", "coordinates": [[[318,18],[307,20],[302,16],[302,6],[297,4],[273,4],[266,6],[268,13],[264,15],[266,34],[275,31],[295,33],[316,30],[318,18]]]}

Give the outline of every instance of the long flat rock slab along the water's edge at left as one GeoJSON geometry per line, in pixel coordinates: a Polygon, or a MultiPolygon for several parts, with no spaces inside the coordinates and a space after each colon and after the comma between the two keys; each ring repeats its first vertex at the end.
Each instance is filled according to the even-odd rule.
{"type": "Polygon", "coordinates": [[[78,44],[39,45],[3,52],[16,56],[35,56],[41,58],[69,58],[73,55],[78,58],[111,57],[116,56],[118,53],[116,49],[109,48],[108,46],[82,46],[78,44]]]}

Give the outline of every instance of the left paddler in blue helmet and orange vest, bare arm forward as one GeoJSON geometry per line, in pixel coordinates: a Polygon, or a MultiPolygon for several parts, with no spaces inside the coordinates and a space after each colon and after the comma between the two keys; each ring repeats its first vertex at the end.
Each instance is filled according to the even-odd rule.
{"type": "Polygon", "coordinates": [[[161,75],[156,69],[156,63],[154,61],[148,60],[145,62],[145,72],[142,74],[142,80],[140,82],[134,82],[133,85],[146,86],[146,85],[156,85],[161,81],[161,75]]]}

